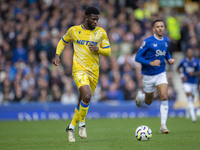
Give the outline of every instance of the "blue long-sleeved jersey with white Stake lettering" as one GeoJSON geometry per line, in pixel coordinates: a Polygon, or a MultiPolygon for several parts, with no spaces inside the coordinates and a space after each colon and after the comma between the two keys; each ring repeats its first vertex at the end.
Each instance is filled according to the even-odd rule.
{"type": "Polygon", "coordinates": [[[169,39],[156,38],[155,35],[145,39],[137,52],[135,61],[142,64],[142,74],[157,75],[165,72],[165,59],[168,61],[171,56],[169,53],[169,39]],[[151,66],[149,63],[154,60],[160,60],[160,66],[151,66]]]}

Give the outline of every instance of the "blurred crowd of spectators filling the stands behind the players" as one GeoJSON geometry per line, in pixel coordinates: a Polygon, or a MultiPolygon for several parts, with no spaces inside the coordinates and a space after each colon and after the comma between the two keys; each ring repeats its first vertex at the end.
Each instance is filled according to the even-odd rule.
{"type": "MultiPolygon", "coordinates": [[[[71,76],[72,44],[66,45],[59,67],[51,61],[60,38],[69,27],[83,22],[88,6],[99,8],[99,26],[107,31],[112,49],[110,57],[100,57],[99,83],[92,102],[135,98],[142,89],[142,76],[134,57],[142,41],[153,34],[152,20],[169,17],[162,10],[151,14],[131,0],[1,0],[0,103],[77,103],[79,93],[71,76]],[[146,13],[141,17],[141,12],[146,13]]],[[[184,16],[187,20],[180,23],[180,39],[166,32],[172,44],[170,53],[185,53],[192,47],[199,56],[199,12],[184,16]]],[[[170,66],[167,71],[169,99],[175,100],[170,66]]]]}

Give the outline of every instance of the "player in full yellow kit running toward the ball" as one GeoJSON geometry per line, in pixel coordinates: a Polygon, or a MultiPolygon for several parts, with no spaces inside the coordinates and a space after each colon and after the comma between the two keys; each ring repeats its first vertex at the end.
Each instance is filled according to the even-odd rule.
{"type": "Polygon", "coordinates": [[[72,26],[60,39],[53,64],[58,66],[60,54],[65,44],[72,41],[74,47],[72,76],[80,91],[79,103],[75,108],[74,117],[66,128],[69,142],[75,142],[74,129],[79,122],[79,136],[87,138],[85,117],[88,112],[91,95],[94,93],[99,78],[99,54],[111,54],[110,43],[106,32],[97,27],[99,10],[89,7],[85,11],[83,24],[72,26]]]}

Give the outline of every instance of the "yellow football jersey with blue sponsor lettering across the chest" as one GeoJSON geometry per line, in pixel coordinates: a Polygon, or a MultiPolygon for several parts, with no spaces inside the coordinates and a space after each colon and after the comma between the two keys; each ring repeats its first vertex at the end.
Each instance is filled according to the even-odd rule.
{"type": "Polygon", "coordinates": [[[89,44],[93,43],[102,49],[110,47],[110,43],[105,30],[96,27],[94,30],[86,30],[83,25],[69,28],[62,37],[65,43],[73,42],[73,72],[84,70],[90,73],[99,70],[99,53],[93,53],[89,49],[89,44]]]}

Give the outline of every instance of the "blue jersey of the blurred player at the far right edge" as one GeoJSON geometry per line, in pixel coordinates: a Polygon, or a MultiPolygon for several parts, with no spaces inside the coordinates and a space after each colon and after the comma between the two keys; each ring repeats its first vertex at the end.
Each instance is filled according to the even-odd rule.
{"type": "Polygon", "coordinates": [[[189,73],[194,73],[200,70],[199,60],[193,57],[191,60],[185,58],[181,61],[178,68],[183,68],[183,74],[187,77],[187,83],[197,84],[197,76],[190,76],[189,73]]]}

